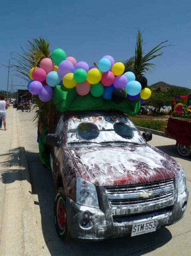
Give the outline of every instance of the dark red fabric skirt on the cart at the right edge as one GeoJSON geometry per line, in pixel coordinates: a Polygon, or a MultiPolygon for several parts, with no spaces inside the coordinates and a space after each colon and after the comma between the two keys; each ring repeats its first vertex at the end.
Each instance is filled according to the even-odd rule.
{"type": "Polygon", "coordinates": [[[166,128],[167,135],[179,144],[191,145],[191,121],[181,121],[170,117],[166,128]]]}

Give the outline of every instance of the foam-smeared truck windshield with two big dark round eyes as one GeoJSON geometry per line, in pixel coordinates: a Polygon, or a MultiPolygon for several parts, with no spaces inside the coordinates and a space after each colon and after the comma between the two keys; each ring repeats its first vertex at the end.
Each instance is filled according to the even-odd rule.
{"type": "Polygon", "coordinates": [[[144,144],[142,135],[126,116],[72,116],[68,122],[68,147],[144,144]],[[86,143],[87,142],[87,143],[86,143]]]}

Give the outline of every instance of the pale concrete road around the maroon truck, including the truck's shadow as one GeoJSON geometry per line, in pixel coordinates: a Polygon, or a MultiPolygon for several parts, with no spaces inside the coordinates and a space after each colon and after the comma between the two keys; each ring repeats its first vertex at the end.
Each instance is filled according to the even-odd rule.
{"type": "MultiPolygon", "coordinates": [[[[178,223],[154,233],[109,239],[101,242],[63,243],[56,234],[53,219],[55,187],[51,172],[39,161],[37,128],[32,122],[34,113],[19,111],[20,127],[29,163],[33,200],[38,222],[40,243],[44,255],[67,256],[126,256],[126,255],[191,255],[191,205],[188,202],[185,217],[178,223]]],[[[191,191],[191,159],[181,158],[175,140],[153,135],[153,146],[172,156],[183,165],[187,186],[191,191]]],[[[35,246],[35,244],[34,244],[35,246]]]]}

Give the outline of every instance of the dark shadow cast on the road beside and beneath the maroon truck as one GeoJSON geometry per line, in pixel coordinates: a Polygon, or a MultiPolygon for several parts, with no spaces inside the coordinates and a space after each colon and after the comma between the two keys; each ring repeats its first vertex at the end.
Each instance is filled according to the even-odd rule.
{"type": "MultiPolygon", "coordinates": [[[[167,228],[157,230],[155,233],[136,237],[122,237],[107,239],[100,242],[79,242],[72,240],[63,243],[55,231],[53,207],[55,186],[52,173],[43,167],[39,161],[39,154],[26,152],[33,194],[38,195],[42,232],[51,255],[68,256],[113,256],[113,255],[141,255],[163,246],[171,240],[172,235],[167,228]]],[[[38,204],[35,202],[35,204],[38,204]]],[[[38,206],[36,206],[38,207],[38,206]]]]}

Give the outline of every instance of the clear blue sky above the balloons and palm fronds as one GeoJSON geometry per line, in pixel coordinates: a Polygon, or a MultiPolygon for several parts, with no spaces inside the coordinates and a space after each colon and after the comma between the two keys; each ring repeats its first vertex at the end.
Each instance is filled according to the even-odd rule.
{"type": "MultiPolygon", "coordinates": [[[[145,52],[165,40],[173,44],[145,74],[148,84],[164,81],[191,88],[191,2],[184,0],[1,0],[0,61],[7,65],[11,52],[20,52],[20,45],[38,36],[50,41],[51,50],[62,48],[90,66],[103,55],[125,60],[134,55],[138,29],[145,52]]],[[[7,72],[0,65],[0,89],[6,89],[7,72]]],[[[10,80],[20,84],[14,73],[10,80]]]]}

